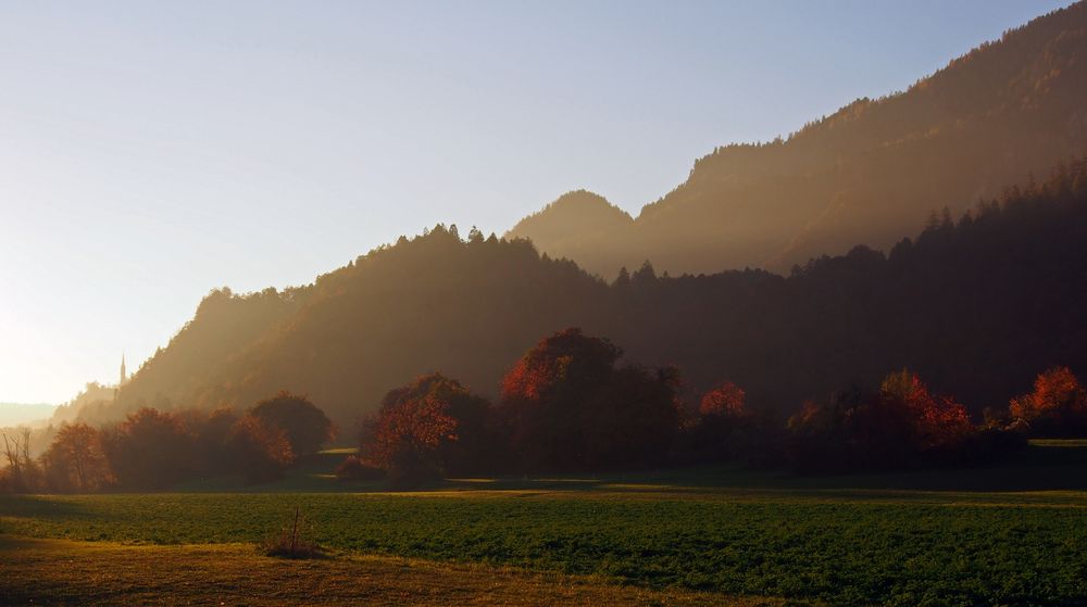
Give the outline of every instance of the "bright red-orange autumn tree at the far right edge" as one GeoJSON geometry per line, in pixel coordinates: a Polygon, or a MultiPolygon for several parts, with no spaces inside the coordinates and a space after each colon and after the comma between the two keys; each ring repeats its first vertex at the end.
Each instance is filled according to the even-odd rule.
{"type": "Polygon", "coordinates": [[[1012,399],[1011,416],[1030,426],[1034,434],[1083,435],[1087,432],[1087,390],[1067,367],[1039,374],[1034,391],[1012,399]]]}

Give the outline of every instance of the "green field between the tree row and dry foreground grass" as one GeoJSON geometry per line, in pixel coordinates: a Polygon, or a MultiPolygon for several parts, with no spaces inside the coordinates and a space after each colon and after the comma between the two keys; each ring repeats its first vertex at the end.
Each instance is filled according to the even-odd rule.
{"type": "MultiPolygon", "coordinates": [[[[262,541],[297,505],[313,538],[334,556],[310,566],[332,570],[359,555],[483,567],[485,578],[513,569],[612,587],[604,594],[619,603],[695,600],[709,593],[722,600],[835,605],[1085,604],[1087,493],[1008,490],[1062,477],[1078,488],[1084,448],[1050,443],[1016,466],[928,475],[795,479],[720,469],[464,480],[415,493],[351,493],[360,488],[332,480],[322,485],[314,464],[272,489],[311,483],[325,492],[214,493],[204,486],[2,496],[0,533],[117,551],[124,544],[204,551],[222,544],[235,552],[211,558],[235,562],[246,554],[258,558],[252,549],[238,553],[237,545],[262,541]],[[932,488],[955,479],[966,488],[1002,479],[1005,488],[932,488]],[[919,486],[925,481],[932,486],[919,486]],[[614,584],[673,594],[623,595],[614,584]]],[[[8,560],[9,553],[0,548],[8,560]]],[[[273,566],[280,567],[261,567],[273,566]]]]}

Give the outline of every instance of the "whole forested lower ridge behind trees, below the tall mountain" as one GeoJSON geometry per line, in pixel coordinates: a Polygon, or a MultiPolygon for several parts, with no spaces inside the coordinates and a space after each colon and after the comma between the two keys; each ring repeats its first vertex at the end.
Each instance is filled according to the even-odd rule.
{"type": "Polygon", "coordinates": [[[976,413],[1053,365],[1087,369],[1085,295],[1084,161],[1002,204],[945,215],[889,254],[857,246],[788,277],[669,278],[645,265],[607,283],[526,240],[462,240],[438,226],[307,287],[212,292],[115,400],[82,417],[245,408],[286,389],[350,429],[427,371],[493,395],[525,350],[572,326],[611,338],[630,362],[678,365],[690,394],[730,379],[757,406],[790,409],[909,367],[976,413]]]}

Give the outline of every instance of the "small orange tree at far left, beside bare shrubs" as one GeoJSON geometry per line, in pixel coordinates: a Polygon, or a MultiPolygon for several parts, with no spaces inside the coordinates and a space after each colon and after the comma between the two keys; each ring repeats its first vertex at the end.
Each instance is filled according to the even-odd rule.
{"type": "Polygon", "coordinates": [[[86,423],[61,426],[41,461],[55,491],[97,491],[113,482],[101,433],[86,423]]]}

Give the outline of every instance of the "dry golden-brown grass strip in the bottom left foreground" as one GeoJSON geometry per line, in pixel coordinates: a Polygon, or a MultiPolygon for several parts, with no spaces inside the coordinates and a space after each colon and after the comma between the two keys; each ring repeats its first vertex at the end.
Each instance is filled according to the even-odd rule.
{"type": "Polygon", "coordinates": [[[0,536],[3,605],[775,605],[588,578],[247,544],[151,546],[0,536]]]}

